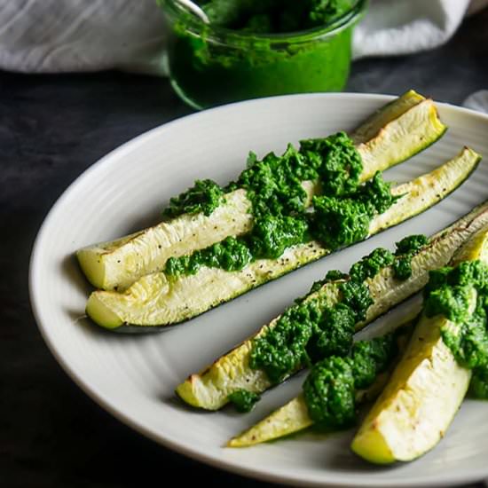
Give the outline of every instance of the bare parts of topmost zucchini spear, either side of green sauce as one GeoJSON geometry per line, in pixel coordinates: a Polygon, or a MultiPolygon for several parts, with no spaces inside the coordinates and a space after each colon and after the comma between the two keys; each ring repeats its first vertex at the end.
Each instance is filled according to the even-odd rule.
{"type": "MultiPolygon", "coordinates": [[[[361,181],[412,157],[445,130],[433,101],[408,91],[352,133],[364,164],[361,181]]],[[[312,182],[303,185],[309,198],[317,193],[312,182]]],[[[121,239],[82,248],[76,256],[92,285],[121,291],[140,277],[161,271],[169,257],[184,256],[248,232],[252,226],[250,208],[246,191],[236,190],[226,194],[224,204],[209,216],[178,216],[121,239]]]]}

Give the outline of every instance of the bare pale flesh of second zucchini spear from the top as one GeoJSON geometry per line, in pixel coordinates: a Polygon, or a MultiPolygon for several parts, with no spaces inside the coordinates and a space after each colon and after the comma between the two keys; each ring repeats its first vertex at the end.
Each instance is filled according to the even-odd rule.
{"type": "MultiPolygon", "coordinates": [[[[453,192],[479,161],[477,153],[465,148],[439,168],[393,188],[392,193],[402,195],[401,198],[382,215],[374,217],[368,237],[429,209],[453,192]]],[[[125,331],[141,327],[138,330],[145,332],[191,319],[330,253],[319,242],[311,241],[287,248],[278,259],[258,259],[236,272],[202,267],[194,275],[178,277],[152,273],[124,293],[93,292],[86,311],[102,327],[124,332],[124,327],[134,326],[125,331]]]]}

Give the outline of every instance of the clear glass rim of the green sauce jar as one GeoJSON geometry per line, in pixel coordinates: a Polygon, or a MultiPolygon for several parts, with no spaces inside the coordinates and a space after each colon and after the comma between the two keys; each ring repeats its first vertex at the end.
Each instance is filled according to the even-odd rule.
{"type": "Polygon", "coordinates": [[[328,22],[323,26],[278,34],[255,34],[252,32],[240,32],[239,30],[223,28],[221,26],[212,26],[204,23],[193,13],[188,12],[177,0],[158,0],[157,3],[161,6],[163,11],[172,18],[171,20],[185,20],[185,27],[187,29],[192,30],[193,34],[198,34],[199,31],[205,32],[205,37],[209,41],[217,41],[227,44],[232,43],[232,41],[239,43],[246,41],[302,43],[304,41],[317,39],[318,37],[332,37],[344,28],[349,28],[351,24],[356,23],[364,14],[368,0],[357,0],[350,10],[344,12],[341,17],[328,22]]]}

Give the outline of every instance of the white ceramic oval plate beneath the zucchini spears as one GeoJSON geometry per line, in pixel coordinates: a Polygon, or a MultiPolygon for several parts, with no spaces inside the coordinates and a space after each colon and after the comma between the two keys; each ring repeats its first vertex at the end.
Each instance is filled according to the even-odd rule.
{"type": "MultiPolygon", "coordinates": [[[[434,209],[362,244],[293,272],[232,303],[155,335],[116,335],[83,318],[90,287],[77,248],[155,223],[168,198],[198,177],[225,183],[249,149],[264,155],[288,141],[350,130],[390,97],[314,94],[248,101],[193,114],[130,141],[88,169],[61,196],[35,242],[30,292],[45,341],[67,373],[107,411],[180,453],[219,468],[289,484],[446,485],[488,476],[488,405],[467,401],[437,448],[411,464],[374,468],[349,450],[353,430],[306,434],[232,450],[222,445],[300,388],[303,377],[266,395],[248,415],[201,413],[173,395],[178,382],[253,333],[331,268],[349,269],[371,249],[431,233],[486,198],[488,163],[434,209]]],[[[387,172],[396,181],[433,169],[472,146],[488,156],[488,117],[440,106],[450,126],[435,146],[387,172]]]]}

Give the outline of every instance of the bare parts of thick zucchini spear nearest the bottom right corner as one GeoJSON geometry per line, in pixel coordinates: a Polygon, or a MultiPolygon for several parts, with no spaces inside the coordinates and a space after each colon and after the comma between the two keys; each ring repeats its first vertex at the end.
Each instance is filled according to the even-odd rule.
{"type": "MultiPolygon", "coordinates": [[[[488,262],[488,228],[477,232],[455,256],[454,265],[488,262]]],[[[470,297],[476,307],[476,291],[470,297]]],[[[427,453],[445,435],[460,408],[471,370],[460,366],[441,337],[458,325],[443,316],[422,317],[390,382],[366,416],[351,448],[376,464],[408,461],[427,453]]]]}

